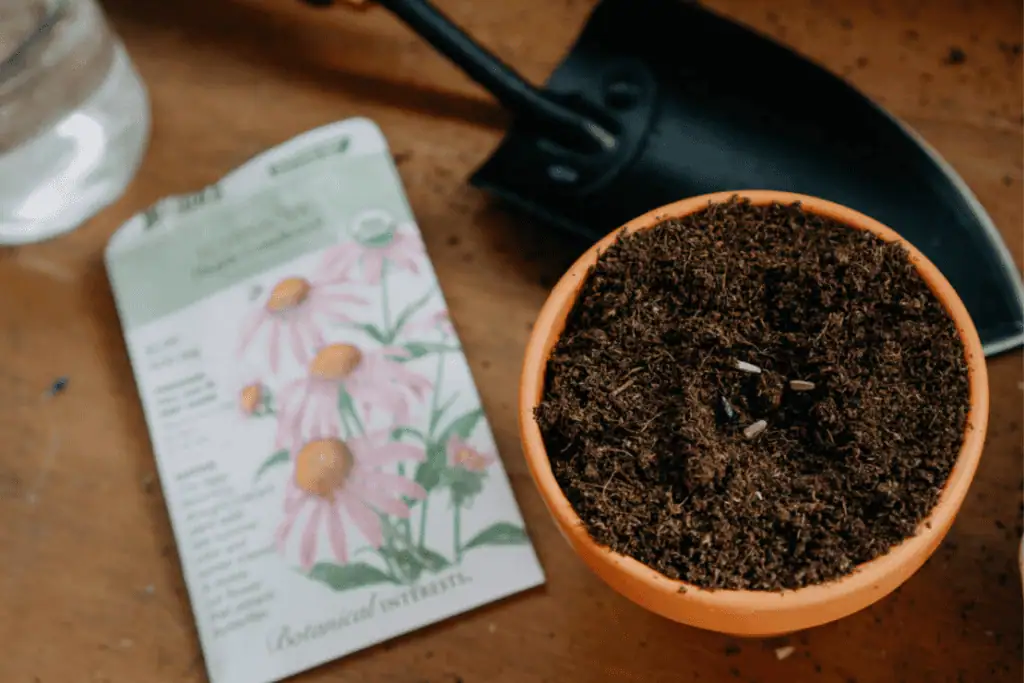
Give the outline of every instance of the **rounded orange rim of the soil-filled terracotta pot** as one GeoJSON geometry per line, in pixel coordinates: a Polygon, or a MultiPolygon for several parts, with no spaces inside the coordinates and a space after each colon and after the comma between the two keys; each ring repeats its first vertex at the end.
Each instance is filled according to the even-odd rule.
{"type": "Polygon", "coordinates": [[[974,323],[949,282],[913,245],[873,218],[834,202],[795,193],[731,190],[701,195],[653,209],[608,233],[577,259],[549,295],[526,344],[520,378],[519,430],[526,463],[541,497],[562,533],[578,552],[580,549],[589,551],[588,554],[596,561],[628,574],[650,591],[664,594],[665,599],[684,600],[713,610],[754,611],[784,608],[788,611],[814,607],[869,590],[877,587],[884,577],[899,571],[913,558],[922,554],[926,556],[931,554],[945,536],[967,496],[981,458],[988,424],[988,374],[981,340],[974,323]],[[953,318],[964,343],[968,362],[970,408],[964,443],[938,502],[928,517],[921,522],[914,536],[894,546],[885,555],[858,565],[850,574],[824,584],[794,590],[709,590],[669,579],[632,557],[598,545],[590,538],[583,521],[555,480],[540,427],[534,419],[534,410],[543,396],[547,360],[551,349],[561,336],[565,318],[598,255],[609,247],[623,230],[633,232],[647,229],[667,219],[686,216],[707,208],[709,204],[726,202],[737,196],[749,200],[755,206],[799,202],[810,213],[831,218],[854,229],[868,230],[887,242],[902,243],[909,253],[910,262],[953,318]]]}

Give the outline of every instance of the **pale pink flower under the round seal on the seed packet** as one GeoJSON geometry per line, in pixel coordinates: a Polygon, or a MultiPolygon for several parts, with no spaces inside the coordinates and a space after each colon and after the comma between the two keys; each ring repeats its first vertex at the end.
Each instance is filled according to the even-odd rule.
{"type": "Polygon", "coordinates": [[[425,250],[413,223],[398,223],[388,212],[371,209],[352,220],[349,231],[355,244],[329,251],[327,259],[331,267],[348,271],[359,263],[370,285],[380,284],[385,263],[414,274],[420,272],[425,250]]]}

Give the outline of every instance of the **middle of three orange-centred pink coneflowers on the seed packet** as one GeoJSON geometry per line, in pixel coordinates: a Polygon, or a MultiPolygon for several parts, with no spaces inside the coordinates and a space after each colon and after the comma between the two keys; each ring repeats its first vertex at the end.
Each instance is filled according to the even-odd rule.
{"type": "Polygon", "coordinates": [[[288,384],[279,396],[278,446],[291,449],[302,434],[340,433],[346,418],[338,409],[343,390],[368,420],[377,414],[391,424],[409,421],[414,402],[431,384],[395,357],[408,351],[381,347],[364,351],[352,344],[329,344],[309,364],[306,377],[288,384]]]}

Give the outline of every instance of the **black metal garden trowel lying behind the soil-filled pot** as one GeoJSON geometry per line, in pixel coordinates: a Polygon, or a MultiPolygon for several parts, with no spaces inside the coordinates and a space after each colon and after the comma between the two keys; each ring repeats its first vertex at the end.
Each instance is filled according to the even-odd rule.
{"type": "Polygon", "coordinates": [[[821,197],[932,259],[986,353],[1024,342],[1020,274],[963,179],[907,126],[769,38],[694,2],[602,0],[540,89],[429,2],[377,4],[515,115],[471,178],[510,205],[592,241],[693,195],[821,197]]]}

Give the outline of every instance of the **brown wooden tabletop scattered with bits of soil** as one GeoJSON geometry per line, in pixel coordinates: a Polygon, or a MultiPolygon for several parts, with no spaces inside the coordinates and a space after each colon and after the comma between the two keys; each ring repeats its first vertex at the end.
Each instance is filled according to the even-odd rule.
{"type": "MultiPolygon", "coordinates": [[[[109,236],[159,197],[352,115],[379,122],[548,572],[547,586],[311,672],[301,681],[1019,682],[1021,355],[991,362],[988,446],[947,542],[874,607],[778,643],[653,616],[569,551],[519,453],[521,351],[569,246],[465,178],[504,117],[380,11],[294,0],[109,0],[151,89],[152,146],[116,206],[54,242],[0,252],[0,681],[203,681],[181,573],[110,289],[109,236]],[[495,302],[500,302],[496,305],[495,302]],[[65,393],[43,390],[68,376],[65,393]]],[[[542,79],[589,0],[439,3],[542,79]]],[[[848,76],[944,154],[1022,257],[1018,0],[714,0],[848,76]],[[945,65],[950,48],[967,59],[945,65]]],[[[727,46],[723,46],[727,49],[727,46]]]]}

